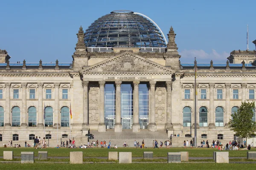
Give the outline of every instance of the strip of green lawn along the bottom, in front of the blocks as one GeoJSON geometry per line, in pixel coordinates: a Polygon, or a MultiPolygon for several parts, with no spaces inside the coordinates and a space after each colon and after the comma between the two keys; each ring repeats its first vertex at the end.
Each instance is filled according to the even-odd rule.
{"type": "Polygon", "coordinates": [[[255,164],[215,164],[215,163],[140,163],[140,164],[118,164],[118,163],[95,163],[95,164],[1,164],[2,170],[255,170],[255,164]]]}

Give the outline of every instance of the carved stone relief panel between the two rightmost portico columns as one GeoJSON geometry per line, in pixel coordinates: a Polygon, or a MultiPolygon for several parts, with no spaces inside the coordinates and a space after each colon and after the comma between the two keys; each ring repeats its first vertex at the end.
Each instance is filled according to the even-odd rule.
{"type": "Polygon", "coordinates": [[[156,84],[155,113],[156,123],[166,123],[166,87],[164,82],[156,84]]]}

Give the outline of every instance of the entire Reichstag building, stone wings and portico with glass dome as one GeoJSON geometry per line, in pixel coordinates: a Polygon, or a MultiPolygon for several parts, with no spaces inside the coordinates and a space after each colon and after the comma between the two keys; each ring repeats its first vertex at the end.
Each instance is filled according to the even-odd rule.
{"type": "Polygon", "coordinates": [[[193,137],[195,114],[199,140],[229,141],[231,114],[242,101],[255,101],[255,50],[232,51],[223,64],[183,64],[174,29],[165,38],[154,21],[132,11],[112,11],[76,35],[70,64],[13,63],[0,51],[2,142],[44,136],[44,128],[55,138],[57,127],[62,137],[70,127],[72,136],[148,130],[193,137]]]}

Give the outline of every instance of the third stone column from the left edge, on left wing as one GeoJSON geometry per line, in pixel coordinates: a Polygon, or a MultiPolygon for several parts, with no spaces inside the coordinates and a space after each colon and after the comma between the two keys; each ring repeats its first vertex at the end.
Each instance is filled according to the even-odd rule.
{"type": "Polygon", "coordinates": [[[44,83],[38,83],[38,127],[44,127],[44,113],[43,113],[43,86],[44,83]]]}

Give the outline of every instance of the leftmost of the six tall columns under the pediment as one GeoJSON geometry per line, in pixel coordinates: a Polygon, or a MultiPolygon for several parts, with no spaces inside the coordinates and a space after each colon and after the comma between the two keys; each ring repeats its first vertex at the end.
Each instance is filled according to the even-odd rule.
{"type": "Polygon", "coordinates": [[[88,122],[88,84],[89,81],[83,81],[83,130],[89,130],[88,122]]]}

